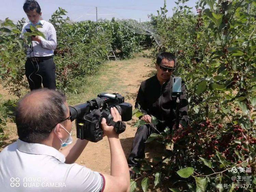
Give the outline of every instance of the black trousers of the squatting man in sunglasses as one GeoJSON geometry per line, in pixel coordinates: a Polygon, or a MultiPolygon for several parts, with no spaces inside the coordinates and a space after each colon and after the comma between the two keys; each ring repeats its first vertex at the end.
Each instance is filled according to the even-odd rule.
{"type": "Polygon", "coordinates": [[[144,159],[145,158],[145,146],[147,138],[151,135],[151,133],[159,133],[163,131],[163,126],[157,126],[156,129],[152,124],[145,124],[138,127],[137,132],[134,136],[131,153],[128,157],[128,165],[131,167],[137,166],[140,167],[140,164],[135,159],[144,159]]]}

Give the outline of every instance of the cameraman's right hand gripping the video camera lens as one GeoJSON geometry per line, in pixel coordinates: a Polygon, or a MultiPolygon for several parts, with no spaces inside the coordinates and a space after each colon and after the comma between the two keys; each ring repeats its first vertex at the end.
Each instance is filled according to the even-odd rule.
{"type": "MultiPolygon", "coordinates": [[[[118,112],[118,110],[114,107],[111,108],[111,115],[113,117],[113,121],[117,122],[117,121],[122,121],[121,116],[118,112]]],[[[101,121],[101,127],[103,129],[103,133],[104,135],[106,135],[107,137],[118,137],[118,134],[115,132],[114,127],[113,126],[108,126],[106,124],[106,119],[103,118],[101,121]]]]}

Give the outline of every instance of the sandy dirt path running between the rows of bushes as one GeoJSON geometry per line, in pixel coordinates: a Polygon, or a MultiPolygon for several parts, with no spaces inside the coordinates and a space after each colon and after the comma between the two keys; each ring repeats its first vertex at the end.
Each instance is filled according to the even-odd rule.
{"type": "MultiPolygon", "coordinates": [[[[148,78],[148,75],[154,70],[153,67],[149,66],[151,62],[151,59],[139,57],[109,63],[112,66],[111,70],[117,70],[119,72],[119,76],[121,77],[119,84],[121,86],[117,84],[115,86],[115,90],[112,90],[114,88],[111,88],[106,91],[118,92],[124,95],[126,102],[131,103],[134,108],[134,103],[141,81],[148,78]]],[[[133,137],[137,130],[136,128],[131,128],[131,124],[133,123],[134,119],[127,122],[126,131],[120,134],[120,141],[126,157],[128,157],[130,153],[133,137]]],[[[104,137],[98,143],[89,142],[81,156],[77,159],[76,163],[85,165],[95,171],[109,174],[110,149],[108,139],[104,137]]]]}

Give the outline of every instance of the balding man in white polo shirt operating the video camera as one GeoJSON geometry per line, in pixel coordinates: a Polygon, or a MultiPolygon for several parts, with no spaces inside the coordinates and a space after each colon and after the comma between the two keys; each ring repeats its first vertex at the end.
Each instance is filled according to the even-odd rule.
{"type": "MultiPolygon", "coordinates": [[[[111,109],[114,121],[121,120],[111,109]]],[[[118,134],[102,120],[111,152],[111,175],[74,163],[88,141],[72,143],[65,95],[50,89],[31,91],[16,107],[19,139],[0,152],[0,191],[129,191],[129,168],[118,134]],[[68,145],[58,151],[61,146],[68,145]]],[[[100,164],[99,164],[100,166],[100,164]]]]}

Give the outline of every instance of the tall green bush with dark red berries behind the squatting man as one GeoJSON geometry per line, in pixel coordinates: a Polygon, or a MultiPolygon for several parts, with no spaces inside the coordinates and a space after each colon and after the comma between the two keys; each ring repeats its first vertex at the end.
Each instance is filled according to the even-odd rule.
{"type": "MultiPolygon", "coordinates": [[[[151,165],[147,174],[153,177],[154,173],[155,183],[167,185],[171,191],[234,191],[239,184],[253,191],[256,25],[255,12],[248,14],[247,6],[255,6],[255,2],[201,0],[195,15],[180,5],[186,1],[176,2],[170,18],[166,5],[151,18],[162,39],[154,55],[158,51],[177,55],[175,74],[187,85],[191,124],[179,132],[166,129],[152,135],[149,141],[165,144],[166,159],[154,168],[143,161],[144,167],[151,165]],[[235,174],[232,167],[251,168],[252,173],[235,174]],[[232,176],[251,178],[239,182],[232,181],[232,176]]],[[[142,188],[147,186],[148,175],[140,178],[142,188]]],[[[134,181],[131,184],[136,186],[134,181]]]]}

